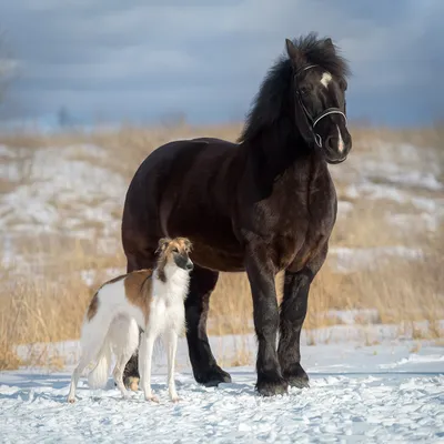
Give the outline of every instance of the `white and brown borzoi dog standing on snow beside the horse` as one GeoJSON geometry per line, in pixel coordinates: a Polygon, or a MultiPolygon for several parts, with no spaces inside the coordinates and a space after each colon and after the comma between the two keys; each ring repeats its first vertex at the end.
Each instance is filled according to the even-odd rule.
{"type": "Polygon", "coordinates": [[[147,401],[159,402],[151,391],[151,361],[157,337],[163,336],[168,351],[168,389],[171,401],[179,401],[174,382],[178,337],[184,334],[184,300],[189,290],[191,242],[185,238],[161,239],[154,270],[140,270],[105,282],[94,294],[84,315],[81,357],[71,377],[68,402],[75,401],[79,377],[91,361],[88,375],[91,389],[107,384],[111,351],[117,355],[112,373],[124,398],[124,367],[139,345],[141,385],[147,401]]]}

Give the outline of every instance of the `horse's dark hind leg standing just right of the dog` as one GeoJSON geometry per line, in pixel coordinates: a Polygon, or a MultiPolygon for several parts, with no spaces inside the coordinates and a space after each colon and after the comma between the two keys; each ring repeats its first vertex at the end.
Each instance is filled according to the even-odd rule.
{"type": "Polygon", "coordinates": [[[186,341],[190,361],[195,381],[206,386],[231,382],[231,376],[215,362],[206,335],[210,296],[218,278],[218,272],[195,265],[191,273],[190,290],[185,300],[186,341]]]}

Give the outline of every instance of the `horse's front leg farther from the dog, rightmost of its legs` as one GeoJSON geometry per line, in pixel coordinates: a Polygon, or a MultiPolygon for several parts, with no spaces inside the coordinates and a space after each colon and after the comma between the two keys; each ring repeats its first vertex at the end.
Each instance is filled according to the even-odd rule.
{"type": "Polygon", "coordinates": [[[325,261],[326,248],[300,271],[285,271],[278,347],[282,375],[293,387],[307,387],[309,376],[301,366],[301,330],[305,320],[310,285],[325,261]]]}

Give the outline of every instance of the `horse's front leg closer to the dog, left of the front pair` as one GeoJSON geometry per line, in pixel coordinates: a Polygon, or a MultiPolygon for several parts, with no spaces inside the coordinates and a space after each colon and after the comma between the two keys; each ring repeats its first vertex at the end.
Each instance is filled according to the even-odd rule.
{"type": "Polygon", "coordinates": [[[256,359],[256,389],[261,395],[272,396],[286,392],[276,353],[279,310],[274,285],[274,266],[264,248],[255,248],[245,256],[245,269],[253,296],[254,327],[259,349],[256,359]],[[263,250],[263,251],[261,251],[263,250]]]}

